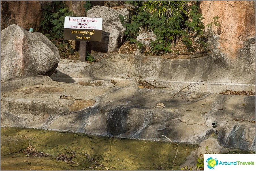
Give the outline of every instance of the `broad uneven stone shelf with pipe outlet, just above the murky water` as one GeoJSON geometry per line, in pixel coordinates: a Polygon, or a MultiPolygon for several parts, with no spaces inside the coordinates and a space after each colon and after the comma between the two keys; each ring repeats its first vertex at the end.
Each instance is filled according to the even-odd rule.
{"type": "Polygon", "coordinates": [[[103,80],[91,85],[55,82],[48,76],[2,81],[1,126],[146,140],[164,140],[165,135],[174,142],[191,144],[213,135],[218,141],[227,136],[228,140],[220,141],[223,147],[255,148],[255,123],[251,123],[255,117],[250,117],[255,116],[253,96],[201,92],[192,101],[185,94],[171,98],[177,91],[170,89],[109,87],[103,80]],[[93,85],[99,82],[103,84],[93,85]],[[155,107],[159,103],[165,107],[155,107]],[[234,106],[236,110],[231,110],[234,106]],[[216,128],[211,126],[213,121],[216,128]],[[230,124],[242,129],[227,133],[224,130],[230,124]]]}

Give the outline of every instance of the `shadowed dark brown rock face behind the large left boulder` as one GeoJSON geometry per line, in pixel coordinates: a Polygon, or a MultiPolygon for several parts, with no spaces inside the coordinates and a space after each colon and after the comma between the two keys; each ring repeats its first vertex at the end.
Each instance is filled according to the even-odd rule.
{"type": "Polygon", "coordinates": [[[12,24],[38,31],[42,17],[41,3],[42,1],[1,1],[1,31],[12,24]]]}

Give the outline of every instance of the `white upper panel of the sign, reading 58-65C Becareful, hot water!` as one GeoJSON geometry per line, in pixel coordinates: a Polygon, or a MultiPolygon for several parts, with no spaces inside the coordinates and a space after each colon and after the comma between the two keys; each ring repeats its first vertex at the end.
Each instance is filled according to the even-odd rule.
{"type": "Polygon", "coordinates": [[[64,29],[102,30],[102,18],[65,17],[64,29]]]}

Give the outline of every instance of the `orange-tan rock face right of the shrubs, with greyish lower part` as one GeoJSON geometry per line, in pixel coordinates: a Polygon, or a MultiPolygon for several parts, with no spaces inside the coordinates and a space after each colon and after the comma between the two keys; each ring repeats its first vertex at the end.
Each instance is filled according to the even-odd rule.
{"type": "Polygon", "coordinates": [[[248,56],[255,59],[255,1],[200,1],[200,9],[205,25],[213,22],[214,16],[221,24],[206,27],[211,51],[225,58],[225,63],[240,61],[248,66],[248,56]]]}

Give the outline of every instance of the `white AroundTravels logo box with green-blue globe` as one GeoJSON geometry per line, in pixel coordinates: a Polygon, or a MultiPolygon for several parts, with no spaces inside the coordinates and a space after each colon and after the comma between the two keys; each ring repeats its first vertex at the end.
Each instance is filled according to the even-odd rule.
{"type": "Polygon", "coordinates": [[[255,170],[255,154],[205,154],[204,170],[255,170]]]}

